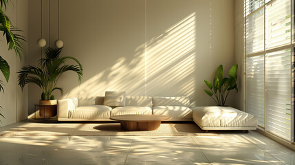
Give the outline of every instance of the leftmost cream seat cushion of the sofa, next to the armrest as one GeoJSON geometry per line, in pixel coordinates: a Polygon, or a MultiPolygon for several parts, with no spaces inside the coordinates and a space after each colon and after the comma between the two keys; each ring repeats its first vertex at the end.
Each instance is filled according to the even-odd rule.
{"type": "Polygon", "coordinates": [[[105,105],[87,105],[69,110],[69,118],[109,118],[111,107],[105,105]]]}

